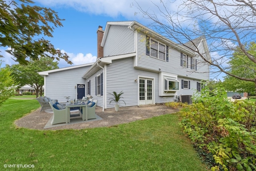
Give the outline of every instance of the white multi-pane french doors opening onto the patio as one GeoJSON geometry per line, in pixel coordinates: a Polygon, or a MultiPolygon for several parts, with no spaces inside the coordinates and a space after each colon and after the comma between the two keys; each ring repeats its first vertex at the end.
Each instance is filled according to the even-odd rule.
{"type": "Polygon", "coordinates": [[[139,105],[147,105],[153,103],[153,80],[140,78],[139,83],[139,105]]]}

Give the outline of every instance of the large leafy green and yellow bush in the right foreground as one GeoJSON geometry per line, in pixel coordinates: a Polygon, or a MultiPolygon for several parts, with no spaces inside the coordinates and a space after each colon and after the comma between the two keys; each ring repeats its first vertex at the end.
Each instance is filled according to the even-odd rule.
{"type": "Polygon", "coordinates": [[[212,171],[256,170],[256,106],[251,101],[228,99],[223,89],[202,89],[193,103],[181,110],[181,125],[194,145],[212,154],[212,171]]]}

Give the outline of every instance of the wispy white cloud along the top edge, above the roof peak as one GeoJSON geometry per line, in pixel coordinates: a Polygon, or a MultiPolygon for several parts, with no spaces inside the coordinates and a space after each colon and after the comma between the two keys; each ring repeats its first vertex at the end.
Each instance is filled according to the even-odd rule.
{"type": "MultiPolygon", "coordinates": [[[[139,12],[136,2],[144,9],[148,9],[150,12],[158,11],[158,8],[154,5],[160,5],[159,0],[152,0],[151,3],[148,0],[34,0],[44,6],[48,7],[72,7],[78,11],[86,12],[95,15],[107,15],[111,17],[117,17],[119,15],[126,18],[135,18],[134,14],[139,12]]],[[[177,8],[170,3],[170,8],[177,8]]]]}

